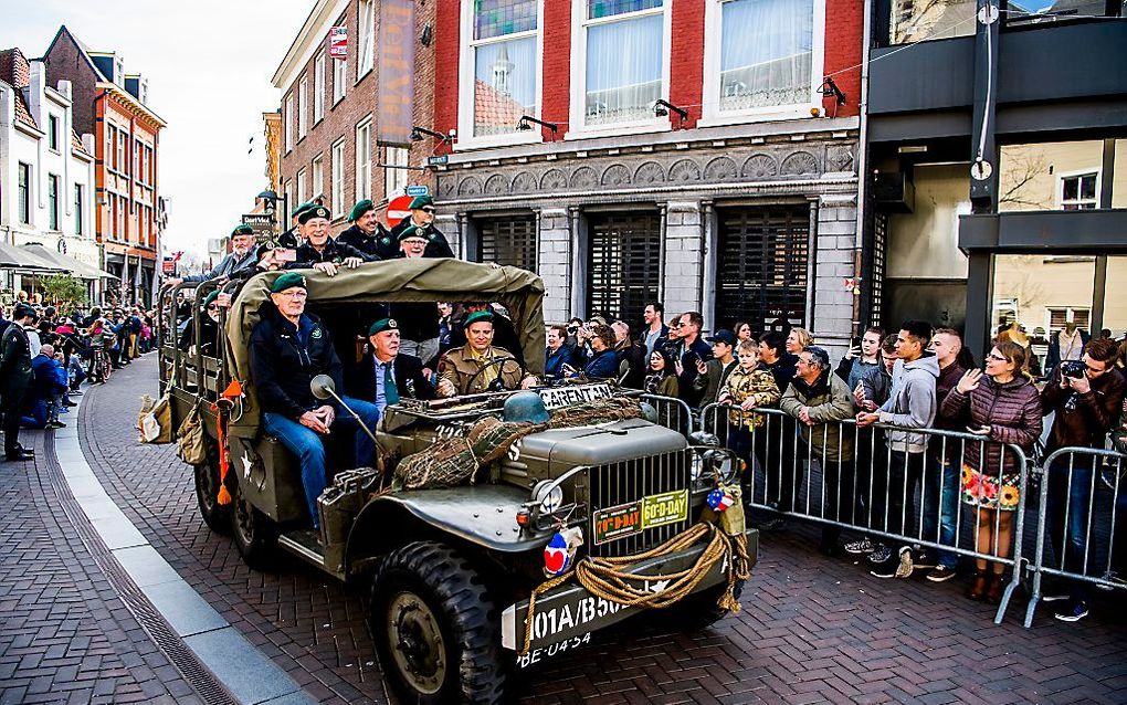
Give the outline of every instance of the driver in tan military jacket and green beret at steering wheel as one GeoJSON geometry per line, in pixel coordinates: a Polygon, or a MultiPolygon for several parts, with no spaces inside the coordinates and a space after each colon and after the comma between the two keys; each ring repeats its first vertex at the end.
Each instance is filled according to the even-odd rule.
{"type": "Polygon", "coordinates": [[[498,385],[529,389],[536,384],[533,374],[521,377],[516,358],[504,347],[494,347],[492,338],[492,314],[477,311],[467,316],[465,345],[446,352],[438,361],[438,396],[490,391],[498,385]]]}

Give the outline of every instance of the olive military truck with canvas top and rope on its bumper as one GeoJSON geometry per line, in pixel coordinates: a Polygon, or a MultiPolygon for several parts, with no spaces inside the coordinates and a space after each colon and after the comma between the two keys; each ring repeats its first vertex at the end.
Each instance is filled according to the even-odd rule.
{"type": "MultiPolygon", "coordinates": [[[[506,363],[543,372],[544,289],[531,272],[400,259],[334,277],[303,273],[305,310],[329,326],[345,362],[358,360],[366,327],[383,307],[488,302],[503,307],[521,346],[523,363],[506,363]]],[[[503,418],[506,402],[518,393],[403,398],[373,429],[381,467],[337,473],[320,497],[321,527],[314,535],[298,461],[263,432],[249,374],[250,332],[259,308],[270,305],[269,284],[277,275],[162,292],[161,389],[171,398],[175,428],[192,415],[203,426],[206,452],[194,474],[204,522],[230,534],[251,565],[276,559],[281,548],[336,579],[370,585],[369,627],[383,672],[405,702],[506,699],[514,670],[579,647],[593,632],[647,611],[625,606],[630,600],[621,590],[607,588],[613,581],[598,578],[607,566],[637,576],[635,589],[663,607],[676,601],[669,613],[691,616],[698,626],[738,609],[730,599],[722,607],[718,600],[725,593],[738,599],[756,558],[757,535],[742,526],[725,534],[704,520],[717,517],[707,497],[718,482],[738,486],[739,461],[715,439],[689,433],[689,408],[680,400],[613,382],[580,381],[538,394],[553,415],[616,398],[637,404],[639,414],[538,426],[472,482],[434,488],[408,490],[390,478],[405,459],[465,437],[482,418],[503,418]],[[199,302],[216,287],[232,302],[221,309],[215,356],[199,352],[211,347],[199,333],[181,350],[176,338],[188,305],[199,332],[199,302]],[[185,302],[177,306],[177,298],[185,302]],[[224,464],[229,469],[221,478],[224,464]],[[221,490],[231,495],[227,504],[218,499],[221,490]],[[698,530],[701,540],[677,543],[698,530]],[[561,536],[569,541],[562,549],[561,536]],[[720,557],[717,546],[724,549],[720,557]],[[549,581],[548,567],[561,575],[549,581]]],[[[319,396],[341,396],[323,380],[314,386],[319,396]]],[[[729,511],[737,510],[742,506],[729,511]]]]}

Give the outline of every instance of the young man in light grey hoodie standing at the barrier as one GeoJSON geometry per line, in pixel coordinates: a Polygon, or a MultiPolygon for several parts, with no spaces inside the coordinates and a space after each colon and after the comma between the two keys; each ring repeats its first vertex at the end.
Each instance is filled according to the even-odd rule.
{"type": "MultiPolygon", "coordinates": [[[[924,450],[928,435],[912,433],[907,429],[928,429],[935,421],[935,380],[939,378],[939,360],[928,351],[931,325],[922,320],[906,320],[896,336],[896,353],[899,360],[893,368],[893,390],[888,400],[873,413],[857,415],[859,426],[868,426],[878,421],[897,426],[885,431],[888,444],[888,523],[889,534],[907,536],[915,522],[915,497],[924,472],[924,450]]],[[[898,555],[891,550],[875,550],[869,561],[876,564],[871,571],[876,578],[907,578],[912,574],[911,546],[902,546],[898,555]]]]}

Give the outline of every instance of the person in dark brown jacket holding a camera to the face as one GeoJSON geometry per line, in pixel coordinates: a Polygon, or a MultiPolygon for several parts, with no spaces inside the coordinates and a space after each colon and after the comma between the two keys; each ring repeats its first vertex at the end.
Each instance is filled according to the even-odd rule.
{"type": "MultiPolygon", "coordinates": [[[[1046,453],[1068,447],[1104,447],[1104,438],[1115,428],[1127,390],[1122,373],[1115,369],[1117,352],[1115,341],[1097,338],[1084,346],[1079,361],[1071,365],[1065,361],[1057,367],[1041,390],[1041,411],[1045,415],[1056,414],[1046,453]]],[[[1054,567],[1068,573],[1081,574],[1090,563],[1088,514],[1094,469],[1093,456],[1082,453],[1062,455],[1046,468],[1049,483],[1046,519],[1056,556],[1054,567]]],[[[1088,615],[1088,590],[1082,581],[1073,581],[1067,593],[1046,591],[1044,599],[1067,600],[1056,610],[1057,619],[1076,622],[1088,615]]]]}

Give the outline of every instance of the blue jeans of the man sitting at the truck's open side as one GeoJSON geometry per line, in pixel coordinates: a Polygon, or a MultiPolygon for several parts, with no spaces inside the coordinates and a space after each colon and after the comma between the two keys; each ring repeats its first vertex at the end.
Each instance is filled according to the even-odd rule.
{"type": "MultiPolygon", "coordinates": [[[[375,432],[375,424],[380,420],[380,409],[371,402],[363,402],[352,397],[343,397],[345,404],[352,407],[364,421],[364,424],[375,432]]],[[[263,414],[263,429],[266,433],[278,439],[286,449],[298,456],[301,461],[301,483],[305,487],[305,501],[309,503],[309,515],[313,520],[313,528],[320,527],[320,517],[317,514],[317,497],[321,496],[325,485],[328,483],[326,474],[325,444],[322,437],[317,431],[301,425],[301,423],[286,418],[282,414],[266,412],[263,414]]],[[[352,433],[355,437],[356,466],[371,466],[375,458],[375,443],[357,425],[356,420],[345,409],[338,409],[337,417],[329,428],[331,432],[352,433]]]]}

